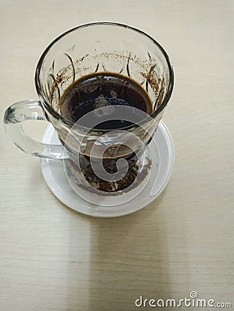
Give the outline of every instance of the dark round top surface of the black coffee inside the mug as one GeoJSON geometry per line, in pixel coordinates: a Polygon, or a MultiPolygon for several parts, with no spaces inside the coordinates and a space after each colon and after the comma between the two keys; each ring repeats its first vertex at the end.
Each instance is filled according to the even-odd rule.
{"type": "MultiPolygon", "coordinates": [[[[92,128],[120,129],[131,125],[128,121],[113,120],[118,118],[114,109],[111,111],[111,106],[115,105],[130,106],[148,114],[152,113],[152,103],[143,87],[129,77],[116,73],[94,73],[76,80],[62,95],[59,108],[63,117],[75,123],[83,115],[107,106],[107,109],[110,108],[107,112],[111,120],[102,122],[100,113],[90,113],[90,119],[98,123],[95,126],[91,124],[92,128]]],[[[89,127],[89,124],[82,125],[89,127]]]]}

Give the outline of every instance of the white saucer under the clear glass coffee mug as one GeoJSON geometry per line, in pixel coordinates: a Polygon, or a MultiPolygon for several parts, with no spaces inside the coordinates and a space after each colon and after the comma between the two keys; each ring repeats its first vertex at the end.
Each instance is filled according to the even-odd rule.
{"type": "MultiPolygon", "coordinates": [[[[49,125],[46,129],[43,142],[60,144],[60,140],[57,138],[57,133],[54,131],[52,125],[49,125]]],[[[64,205],[71,207],[71,209],[95,217],[123,216],[138,211],[150,204],[150,202],[161,194],[166,185],[168,185],[174,165],[174,147],[170,133],[163,121],[159,123],[159,127],[148,149],[152,160],[150,178],[148,178],[146,185],[138,194],[135,191],[131,200],[129,198],[134,190],[129,191],[128,194],[122,194],[119,202],[115,198],[114,202],[117,202],[116,205],[106,205],[105,196],[95,195],[96,201],[93,201],[93,197],[91,198],[91,202],[84,200],[84,189],[81,188],[80,195],[76,193],[77,191],[73,191],[69,181],[66,179],[62,160],[42,158],[42,174],[53,194],[64,205]]]]}

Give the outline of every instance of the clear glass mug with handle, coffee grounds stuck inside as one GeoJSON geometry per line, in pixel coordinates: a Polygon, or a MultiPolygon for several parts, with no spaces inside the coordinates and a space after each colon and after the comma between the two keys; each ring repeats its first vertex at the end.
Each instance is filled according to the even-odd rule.
{"type": "Polygon", "coordinates": [[[136,171],[157,129],[173,85],[170,58],[152,37],[120,23],[89,23],[64,32],[44,50],[35,72],[39,100],[12,104],[4,115],[4,126],[22,151],[41,158],[67,159],[66,171],[82,172],[87,185],[104,194],[123,191],[136,178],[136,174],[129,178],[131,170],[136,171]],[[105,120],[130,122],[118,129],[98,129],[89,113],[81,121],[68,120],[60,110],[62,95],[77,79],[92,73],[132,79],[150,98],[152,113],[114,106],[113,116],[108,105],[99,106],[98,113],[107,116],[105,120]],[[33,140],[22,129],[26,120],[51,122],[62,144],[33,140]]]}

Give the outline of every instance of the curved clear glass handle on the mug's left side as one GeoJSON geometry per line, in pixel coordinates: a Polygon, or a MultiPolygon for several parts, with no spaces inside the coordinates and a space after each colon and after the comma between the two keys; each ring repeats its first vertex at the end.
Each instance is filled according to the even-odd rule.
{"type": "Polygon", "coordinates": [[[4,128],[14,144],[31,156],[50,159],[64,159],[62,144],[45,144],[30,138],[22,128],[27,120],[46,120],[41,103],[38,100],[24,100],[12,104],[4,114],[4,128]]]}

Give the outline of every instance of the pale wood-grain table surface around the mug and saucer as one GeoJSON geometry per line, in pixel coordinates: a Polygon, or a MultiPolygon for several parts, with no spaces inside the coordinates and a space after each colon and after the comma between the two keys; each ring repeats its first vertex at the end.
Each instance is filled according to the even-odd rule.
{"type": "MultiPolygon", "coordinates": [[[[136,299],[179,301],[192,291],[234,310],[234,2],[1,0],[0,8],[1,123],[10,104],[37,99],[44,48],[82,23],[144,30],[175,72],[163,117],[175,147],[172,178],[129,216],[91,218],[64,206],[38,158],[14,147],[2,126],[0,310],[152,310],[136,299]]],[[[46,126],[38,123],[29,126],[35,138],[46,126]]],[[[168,308],[177,309],[190,308],[168,308]]]]}

